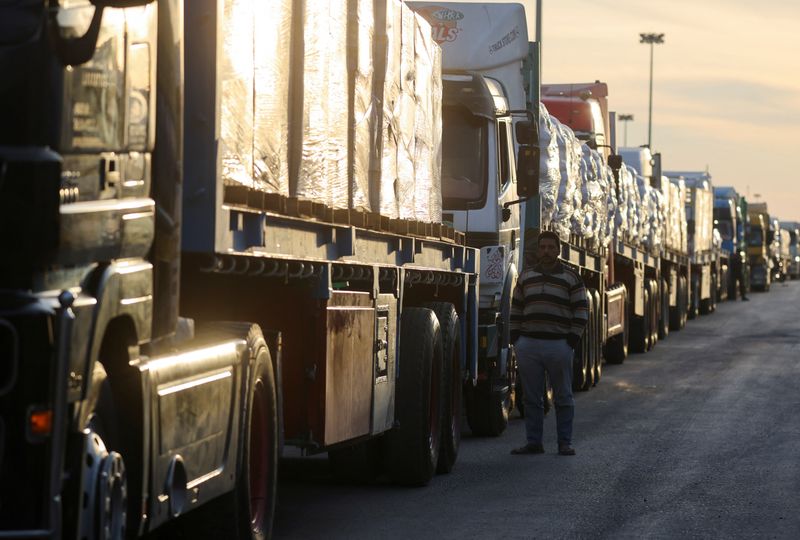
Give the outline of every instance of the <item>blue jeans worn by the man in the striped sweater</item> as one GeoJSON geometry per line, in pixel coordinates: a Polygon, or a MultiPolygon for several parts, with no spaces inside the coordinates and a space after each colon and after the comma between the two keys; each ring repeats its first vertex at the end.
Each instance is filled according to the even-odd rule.
{"type": "Polygon", "coordinates": [[[529,444],[542,444],[545,372],[553,387],[558,444],[572,443],[575,400],[572,398],[572,357],[566,339],[522,336],[515,345],[525,403],[525,432],[529,444]]]}

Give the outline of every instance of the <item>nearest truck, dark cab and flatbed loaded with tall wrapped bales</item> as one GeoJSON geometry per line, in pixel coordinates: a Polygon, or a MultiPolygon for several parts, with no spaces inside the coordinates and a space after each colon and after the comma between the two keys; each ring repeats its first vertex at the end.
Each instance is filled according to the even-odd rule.
{"type": "Polygon", "coordinates": [[[284,445],[454,466],[480,254],[437,206],[440,51],[327,7],[0,8],[0,538],[269,537],[284,445]]]}

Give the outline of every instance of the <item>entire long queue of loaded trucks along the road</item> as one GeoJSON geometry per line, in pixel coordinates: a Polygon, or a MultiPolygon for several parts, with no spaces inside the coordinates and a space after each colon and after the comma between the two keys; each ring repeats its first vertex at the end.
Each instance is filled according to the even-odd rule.
{"type": "Polygon", "coordinates": [[[800,274],[800,224],[541,84],[518,4],[0,10],[0,538],[269,537],[289,446],[450,472],[462,415],[523,412],[542,230],[589,292],[576,390],[800,274]]]}

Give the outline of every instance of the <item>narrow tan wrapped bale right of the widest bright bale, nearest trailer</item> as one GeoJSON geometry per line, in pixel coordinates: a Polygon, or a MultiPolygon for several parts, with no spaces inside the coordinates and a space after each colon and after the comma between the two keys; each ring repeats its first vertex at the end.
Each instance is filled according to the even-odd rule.
{"type": "Polygon", "coordinates": [[[372,0],[350,0],[348,34],[352,56],[350,93],[350,208],[373,210],[370,181],[377,152],[377,100],[373,93],[375,10],[372,0]]]}

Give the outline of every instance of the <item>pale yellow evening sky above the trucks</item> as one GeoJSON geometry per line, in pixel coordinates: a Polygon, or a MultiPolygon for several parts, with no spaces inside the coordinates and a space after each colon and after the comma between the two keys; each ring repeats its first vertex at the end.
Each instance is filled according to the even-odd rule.
{"type": "MultiPolygon", "coordinates": [[[[650,46],[639,33],[663,32],[653,150],[664,169],[708,167],[715,185],[800,221],[800,1],[543,2],[544,82],[607,82],[610,109],[634,115],[628,145],[645,144],[650,46]]],[[[536,1],[522,3],[532,40],[536,1]]],[[[623,135],[618,123],[620,145],[623,135]]]]}

